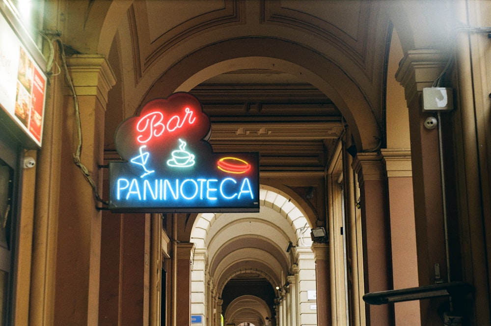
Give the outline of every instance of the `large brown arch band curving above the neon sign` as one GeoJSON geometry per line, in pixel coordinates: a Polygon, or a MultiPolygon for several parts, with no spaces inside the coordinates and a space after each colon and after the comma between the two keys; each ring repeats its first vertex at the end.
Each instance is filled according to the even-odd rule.
{"type": "Polygon", "coordinates": [[[380,145],[380,122],[353,79],[323,55],[278,39],[250,37],[206,46],[169,67],[154,81],[140,103],[177,90],[189,91],[220,73],[246,68],[276,69],[301,76],[333,101],[350,125],[358,150],[371,150],[380,145]]]}

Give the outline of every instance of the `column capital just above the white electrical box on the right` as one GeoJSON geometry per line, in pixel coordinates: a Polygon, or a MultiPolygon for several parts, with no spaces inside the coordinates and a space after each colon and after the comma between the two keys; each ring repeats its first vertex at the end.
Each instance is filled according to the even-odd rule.
{"type": "Polygon", "coordinates": [[[448,58],[448,53],[437,49],[415,49],[406,53],[395,77],[404,87],[408,103],[423,88],[432,86],[443,71],[448,58]]]}

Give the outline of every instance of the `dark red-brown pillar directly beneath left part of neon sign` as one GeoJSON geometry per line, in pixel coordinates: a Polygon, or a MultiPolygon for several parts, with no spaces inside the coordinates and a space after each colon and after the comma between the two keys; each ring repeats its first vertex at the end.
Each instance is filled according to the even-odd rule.
{"type": "Polygon", "coordinates": [[[98,325],[148,325],[150,224],[148,214],[105,212],[98,325]]]}

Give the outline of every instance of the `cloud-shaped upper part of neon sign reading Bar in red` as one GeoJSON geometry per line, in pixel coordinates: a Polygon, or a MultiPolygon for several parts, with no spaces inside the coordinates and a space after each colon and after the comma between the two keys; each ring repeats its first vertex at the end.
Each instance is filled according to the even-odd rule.
{"type": "Polygon", "coordinates": [[[166,99],[151,100],[138,116],[123,121],[116,130],[114,142],[126,161],[140,151],[152,153],[153,160],[165,160],[164,155],[176,149],[211,151],[209,144],[202,141],[209,132],[210,119],[198,99],[190,93],[178,92],[166,99]]]}

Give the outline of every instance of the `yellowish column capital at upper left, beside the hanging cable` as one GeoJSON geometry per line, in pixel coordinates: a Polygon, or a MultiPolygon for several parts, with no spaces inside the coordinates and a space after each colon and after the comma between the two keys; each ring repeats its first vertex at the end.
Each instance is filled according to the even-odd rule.
{"type": "Polygon", "coordinates": [[[95,95],[106,107],[108,92],[116,84],[107,59],[101,55],[73,55],[66,58],[66,64],[77,95],[95,95]]]}

